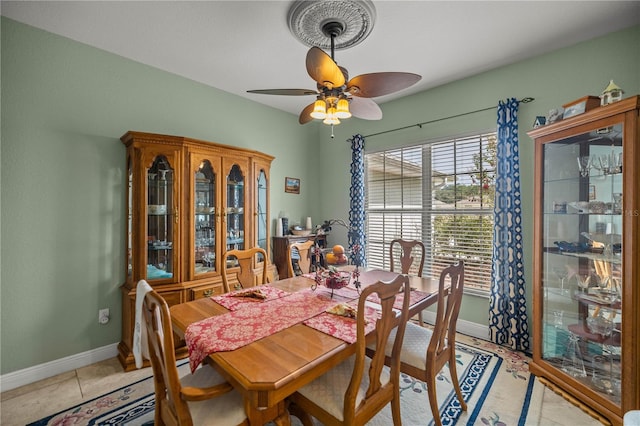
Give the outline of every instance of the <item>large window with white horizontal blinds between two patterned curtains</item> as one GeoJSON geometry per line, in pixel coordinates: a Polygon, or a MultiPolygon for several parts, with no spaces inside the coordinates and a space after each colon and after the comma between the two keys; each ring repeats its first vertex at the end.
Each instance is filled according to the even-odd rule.
{"type": "Polygon", "coordinates": [[[365,155],[367,264],[389,265],[389,242],[418,239],[424,276],[465,262],[465,288],[491,280],[496,134],[365,155]]]}

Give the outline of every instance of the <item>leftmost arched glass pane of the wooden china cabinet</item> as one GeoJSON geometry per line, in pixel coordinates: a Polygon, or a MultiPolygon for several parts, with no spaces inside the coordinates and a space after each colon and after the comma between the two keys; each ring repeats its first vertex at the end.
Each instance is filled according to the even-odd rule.
{"type": "Polygon", "coordinates": [[[147,273],[148,280],[173,277],[175,259],[174,206],[175,171],[167,157],[155,158],[147,169],[147,273]]]}

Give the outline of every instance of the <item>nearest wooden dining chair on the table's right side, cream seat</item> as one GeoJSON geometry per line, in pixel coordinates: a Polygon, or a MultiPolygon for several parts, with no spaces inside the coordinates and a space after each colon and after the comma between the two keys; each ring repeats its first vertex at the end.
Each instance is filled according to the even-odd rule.
{"type": "Polygon", "coordinates": [[[355,354],[288,399],[290,412],[302,418],[303,424],[311,424],[310,415],[325,425],[364,425],[389,403],[393,424],[401,424],[399,355],[409,319],[410,291],[409,279],[403,275],[389,282],[378,281],[362,290],[356,313],[355,354]],[[365,336],[365,304],[370,303],[367,298],[372,294],[380,298],[380,317],[375,330],[365,336]],[[394,309],[401,294],[404,296],[402,308],[394,309]],[[387,366],[384,348],[392,330],[396,332],[387,366]],[[379,349],[371,358],[366,356],[367,341],[375,342],[379,349]]]}

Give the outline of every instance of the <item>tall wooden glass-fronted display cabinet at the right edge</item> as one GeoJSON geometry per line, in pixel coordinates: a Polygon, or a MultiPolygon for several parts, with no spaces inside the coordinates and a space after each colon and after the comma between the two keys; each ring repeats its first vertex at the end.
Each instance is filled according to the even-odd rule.
{"type": "Polygon", "coordinates": [[[640,97],[535,140],[533,361],[603,422],[640,408],[640,97]]]}

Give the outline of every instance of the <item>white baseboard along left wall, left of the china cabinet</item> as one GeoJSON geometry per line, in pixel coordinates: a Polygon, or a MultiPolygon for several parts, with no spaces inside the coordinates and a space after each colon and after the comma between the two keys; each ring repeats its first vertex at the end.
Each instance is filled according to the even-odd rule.
{"type": "Polygon", "coordinates": [[[8,391],[20,386],[28,385],[38,380],[47,379],[58,374],[66,373],[77,368],[86,367],[96,362],[118,356],[118,344],[114,343],[87,352],[71,355],[65,358],[35,365],[23,370],[14,371],[0,376],[0,391],[8,391]]]}

